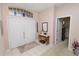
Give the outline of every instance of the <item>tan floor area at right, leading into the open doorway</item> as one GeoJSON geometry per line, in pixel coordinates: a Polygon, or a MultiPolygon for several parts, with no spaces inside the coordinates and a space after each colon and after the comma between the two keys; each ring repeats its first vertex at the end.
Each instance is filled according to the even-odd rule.
{"type": "Polygon", "coordinates": [[[49,50],[44,52],[42,56],[74,56],[74,54],[68,50],[66,40],[56,47],[51,47],[49,50]]]}

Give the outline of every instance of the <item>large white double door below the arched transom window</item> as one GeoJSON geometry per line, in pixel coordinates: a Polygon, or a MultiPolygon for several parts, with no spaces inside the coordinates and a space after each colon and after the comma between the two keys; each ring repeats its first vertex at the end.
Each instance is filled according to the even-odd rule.
{"type": "Polygon", "coordinates": [[[35,40],[36,23],[30,18],[9,17],[8,39],[9,47],[15,48],[35,40]]]}

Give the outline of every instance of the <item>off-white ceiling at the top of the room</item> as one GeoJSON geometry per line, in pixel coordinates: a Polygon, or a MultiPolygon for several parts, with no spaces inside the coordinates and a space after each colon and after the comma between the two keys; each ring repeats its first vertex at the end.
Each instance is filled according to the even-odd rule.
{"type": "Polygon", "coordinates": [[[26,7],[36,12],[40,12],[54,5],[61,6],[63,4],[64,3],[17,3],[17,5],[20,5],[21,7],[24,7],[24,8],[26,7]]]}

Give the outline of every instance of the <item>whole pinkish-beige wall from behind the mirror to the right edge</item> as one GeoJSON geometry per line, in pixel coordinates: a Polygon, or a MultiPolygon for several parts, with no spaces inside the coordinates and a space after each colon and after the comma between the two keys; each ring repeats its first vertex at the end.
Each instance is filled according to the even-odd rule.
{"type": "Polygon", "coordinates": [[[72,50],[72,42],[74,39],[79,41],[79,4],[67,4],[59,7],[50,7],[38,14],[39,19],[39,32],[41,32],[41,22],[48,22],[48,33],[50,35],[50,42],[55,43],[55,21],[60,17],[70,16],[70,34],[69,34],[69,46],[72,50]]]}

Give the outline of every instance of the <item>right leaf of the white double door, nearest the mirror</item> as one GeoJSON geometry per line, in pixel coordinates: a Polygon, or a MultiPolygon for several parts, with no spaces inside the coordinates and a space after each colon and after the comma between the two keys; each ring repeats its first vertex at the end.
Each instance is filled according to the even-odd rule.
{"type": "Polygon", "coordinates": [[[36,38],[36,22],[31,18],[25,20],[25,41],[30,43],[36,38]]]}

